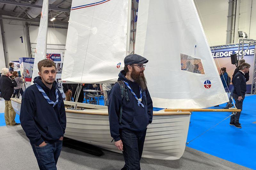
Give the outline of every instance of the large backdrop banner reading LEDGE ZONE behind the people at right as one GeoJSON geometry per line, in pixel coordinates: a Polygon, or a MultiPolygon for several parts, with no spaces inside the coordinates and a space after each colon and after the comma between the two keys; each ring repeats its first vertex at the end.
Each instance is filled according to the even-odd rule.
{"type": "MultiPolygon", "coordinates": [[[[250,64],[250,71],[249,71],[249,75],[250,75],[250,79],[249,81],[246,82],[246,93],[251,93],[251,85],[252,85],[252,74],[253,74],[253,59],[254,59],[254,48],[255,46],[250,46],[248,48],[248,50],[246,51],[248,45],[244,46],[244,60],[246,63],[250,64]],[[245,52],[246,51],[246,52],[245,52]]],[[[242,48],[240,48],[240,56],[242,55],[242,48]]],[[[233,47],[225,47],[223,46],[223,48],[218,48],[218,49],[212,49],[212,55],[214,57],[214,61],[216,64],[216,67],[218,69],[218,71],[220,70],[220,68],[222,67],[226,67],[227,73],[228,75],[231,77],[232,79],[232,75],[234,74],[234,71],[236,69],[236,65],[231,64],[231,54],[237,54],[238,53],[238,45],[237,46],[233,46],[233,47]],[[219,66],[220,65],[220,66],[219,66]]],[[[233,87],[232,82],[230,83],[229,86],[229,90],[231,90],[233,87]]]]}

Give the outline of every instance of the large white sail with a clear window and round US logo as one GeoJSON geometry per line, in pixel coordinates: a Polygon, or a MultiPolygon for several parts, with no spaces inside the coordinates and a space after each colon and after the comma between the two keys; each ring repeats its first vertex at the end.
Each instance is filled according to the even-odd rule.
{"type": "Polygon", "coordinates": [[[145,76],[154,107],[228,101],[193,0],[140,1],[135,53],[149,60],[145,76]]]}

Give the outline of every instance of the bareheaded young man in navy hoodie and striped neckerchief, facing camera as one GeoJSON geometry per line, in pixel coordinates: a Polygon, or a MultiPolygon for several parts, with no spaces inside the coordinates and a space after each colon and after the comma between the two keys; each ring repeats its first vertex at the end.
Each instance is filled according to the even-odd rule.
{"type": "Polygon", "coordinates": [[[22,96],[20,122],[35,153],[40,169],[57,169],[66,129],[66,113],[55,81],[52,60],[38,62],[39,76],[22,96]]]}

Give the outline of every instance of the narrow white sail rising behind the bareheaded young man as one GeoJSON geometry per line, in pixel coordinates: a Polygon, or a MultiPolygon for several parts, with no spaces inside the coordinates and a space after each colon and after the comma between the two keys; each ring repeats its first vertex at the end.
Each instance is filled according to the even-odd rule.
{"type": "Polygon", "coordinates": [[[44,0],[42,12],[41,12],[37,42],[36,42],[36,54],[35,54],[31,84],[34,84],[33,83],[34,78],[38,76],[38,72],[39,72],[37,67],[38,62],[46,58],[48,9],[49,9],[49,2],[48,0],[44,0]]]}

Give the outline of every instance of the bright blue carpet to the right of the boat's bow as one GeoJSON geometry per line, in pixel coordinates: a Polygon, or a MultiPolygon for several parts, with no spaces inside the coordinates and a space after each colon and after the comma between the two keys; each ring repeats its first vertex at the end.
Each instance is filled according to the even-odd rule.
{"type": "MultiPolygon", "coordinates": [[[[243,111],[239,119],[242,129],[230,126],[230,118],[228,118],[203,136],[189,143],[188,147],[256,169],[256,124],[253,124],[253,122],[256,122],[253,107],[255,103],[256,95],[245,97],[243,111]]],[[[225,105],[222,104],[220,107],[223,108],[225,105]]],[[[192,140],[229,115],[228,112],[193,112],[187,141],[192,140]]]]}

